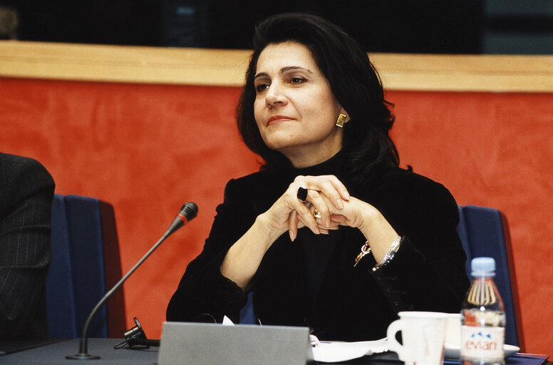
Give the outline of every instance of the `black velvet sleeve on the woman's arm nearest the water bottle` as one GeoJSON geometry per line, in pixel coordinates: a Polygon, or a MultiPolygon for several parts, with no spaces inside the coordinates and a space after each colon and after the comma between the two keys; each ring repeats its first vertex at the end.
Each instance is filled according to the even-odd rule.
{"type": "Polygon", "coordinates": [[[373,272],[385,296],[396,312],[459,312],[469,281],[453,196],[420,176],[391,180],[386,189],[394,193],[383,213],[403,240],[393,260],[373,272]]]}

